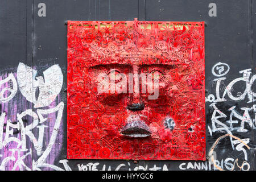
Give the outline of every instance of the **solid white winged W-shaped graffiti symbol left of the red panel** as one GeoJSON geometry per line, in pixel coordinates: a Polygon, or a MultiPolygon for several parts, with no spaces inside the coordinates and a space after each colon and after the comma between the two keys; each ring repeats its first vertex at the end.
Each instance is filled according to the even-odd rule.
{"type": "Polygon", "coordinates": [[[63,75],[59,65],[55,64],[43,72],[44,77],[36,76],[37,71],[23,63],[19,63],[17,80],[20,92],[26,99],[34,103],[34,107],[44,107],[55,100],[63,85],[63,75]],[[36,88],[39,88],[39,96],[36,100],[36,88]]]}

